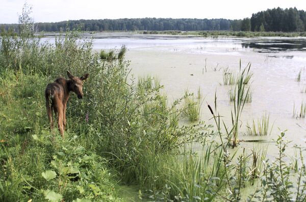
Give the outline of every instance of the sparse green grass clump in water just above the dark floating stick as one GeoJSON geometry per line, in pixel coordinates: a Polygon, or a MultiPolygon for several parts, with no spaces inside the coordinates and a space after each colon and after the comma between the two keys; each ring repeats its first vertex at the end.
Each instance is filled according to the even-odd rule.
{"type": "Polygon", "coordinates": [[[247,123],[247,132],[246,135],[249,136],[265,136],[270,135],[273,125],[271,129],[269,128],[269,119],[270,116],[267,114],[264,114],[261,119],[256,121],[252,120],[251,124],[247,123]]]}

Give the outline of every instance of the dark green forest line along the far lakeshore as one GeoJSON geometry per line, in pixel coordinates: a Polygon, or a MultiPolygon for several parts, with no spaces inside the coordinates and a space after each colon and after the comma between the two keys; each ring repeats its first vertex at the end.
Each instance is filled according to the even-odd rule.
{"type": "MultiPolygon", "coordinates": [[[[18,24],[3,24],[6,30],[18,32],[18,24]]],[[[229,19],[172,19],[134,18],[69,20],[36,23],[38,32],[80,31],[274,31],[303,32],[306,29],[306,12],[290,9],[268,9],[252,14],[251,18],[229,19]]]]}

